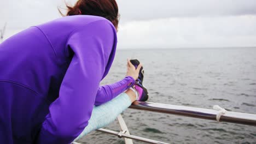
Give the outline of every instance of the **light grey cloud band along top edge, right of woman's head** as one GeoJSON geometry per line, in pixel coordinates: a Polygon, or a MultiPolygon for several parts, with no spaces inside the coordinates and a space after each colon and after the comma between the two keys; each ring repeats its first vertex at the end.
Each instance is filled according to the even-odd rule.
{"type": "Polygon", "coordinates": [[[121,19],[255,15],[254,0],[117,0],[121,19]]]}

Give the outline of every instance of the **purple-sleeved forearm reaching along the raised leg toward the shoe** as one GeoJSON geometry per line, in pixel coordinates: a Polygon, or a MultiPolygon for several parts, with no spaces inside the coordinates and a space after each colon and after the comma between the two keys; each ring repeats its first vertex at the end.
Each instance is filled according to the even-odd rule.
{"type": "Polygon", "coordinates": [[[95,99],[95,105],[102,105],[103,103],[112,100],[117,95],[123,93],[135,83],[131,76],[126,76],[123,80],[115,82],[110,85],[100,86],[95,99]]]}

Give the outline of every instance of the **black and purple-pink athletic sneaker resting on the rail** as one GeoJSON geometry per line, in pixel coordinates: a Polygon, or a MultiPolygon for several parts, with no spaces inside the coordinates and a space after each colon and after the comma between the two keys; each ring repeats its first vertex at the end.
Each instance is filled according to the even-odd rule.
{"type": "MultiPolygon", "coordinates": [[[[139,61],[138,59],[131,59],[130,62],[135,66],[135,68],[138,67],[139,61]]],[[[135,85],[133,85],[133,88],[136,89],[138,92],[138,101],[146,101],[148,100],[148,90],[146,87],[143,86],[143,77],[144,77],[144,70],[143,67],[139,70],[138,79],[135,81],[135,85]]]]}

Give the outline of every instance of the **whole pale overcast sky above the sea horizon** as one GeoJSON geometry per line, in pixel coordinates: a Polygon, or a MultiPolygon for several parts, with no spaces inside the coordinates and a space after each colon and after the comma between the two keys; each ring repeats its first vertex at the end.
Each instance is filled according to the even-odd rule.
{"type": "MultiPolygon", "coordinates": [[[[74,4],[74,0],[67,1],[74,4]]],[[[118,47],[256,46],[255,0],[117,0],[121,15],[118,47]]],[[[61,17],[63,0],[1,0],[5,38],[61,17]]]]}

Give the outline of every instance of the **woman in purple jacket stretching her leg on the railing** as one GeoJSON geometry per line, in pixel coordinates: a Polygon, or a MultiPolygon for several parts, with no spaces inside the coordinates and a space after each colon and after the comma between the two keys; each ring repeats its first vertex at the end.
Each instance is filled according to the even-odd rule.
{"type": "Polygon", "coordinates": [[[136,69],[127,61],[123,80],[99,86],[114,59],[117,28],[114,0],[79,0],[67,16],[5,40],[0,45],[0,141],[71,143],[82,131],[113,121],[136,93],[137,100],[147,100],[138,63],[136,69]]]}

